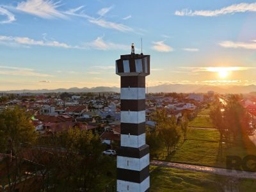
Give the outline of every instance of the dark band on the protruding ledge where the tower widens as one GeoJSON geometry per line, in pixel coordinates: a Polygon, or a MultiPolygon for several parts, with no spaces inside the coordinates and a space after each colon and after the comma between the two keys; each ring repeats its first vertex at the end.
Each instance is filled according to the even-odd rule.
{"type": "Polygon", "coordinates": [[[137,159],[140,159],[141,157],[146,156],[148,153],[149,153],[149,146],[147,144],[142,145],[139,148],[121,146],[117,150],[118,156],[132,157],[137,159]]]}

